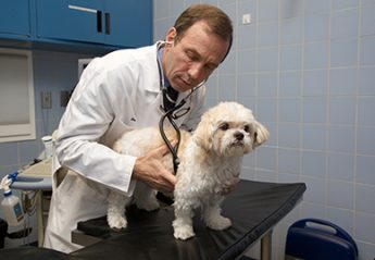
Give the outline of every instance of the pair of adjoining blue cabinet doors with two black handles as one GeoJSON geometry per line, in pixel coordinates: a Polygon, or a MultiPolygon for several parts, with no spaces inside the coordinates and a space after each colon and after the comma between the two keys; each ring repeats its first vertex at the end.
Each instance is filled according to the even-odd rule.
{"type": "Polygon", "coordinates": [[[37,37],[138,47],[151,42],[149,0],[37,0],[37,37]]]}

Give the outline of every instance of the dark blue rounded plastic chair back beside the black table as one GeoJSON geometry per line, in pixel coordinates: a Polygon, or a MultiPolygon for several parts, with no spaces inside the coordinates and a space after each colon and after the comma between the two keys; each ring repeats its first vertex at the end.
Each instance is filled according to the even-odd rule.
{"type": "Polygon", "coordinates": [[[354,239],[341,227],[328,221],[303,219],[287,233],[285,255],[304,260],[355,260],[354,239]]]}

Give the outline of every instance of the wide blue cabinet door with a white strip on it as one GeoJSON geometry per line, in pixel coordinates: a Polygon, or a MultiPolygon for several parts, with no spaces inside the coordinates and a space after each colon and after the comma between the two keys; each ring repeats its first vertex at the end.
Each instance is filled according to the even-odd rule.
{"type": "Polygon", "coordinates": [[[37,37],[103,42],[102,0],[37,0],[37,37]]]}

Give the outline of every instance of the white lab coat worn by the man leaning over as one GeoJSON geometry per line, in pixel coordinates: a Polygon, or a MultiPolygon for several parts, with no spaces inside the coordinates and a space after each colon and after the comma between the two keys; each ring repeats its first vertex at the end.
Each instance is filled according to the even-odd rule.
{"type": "MultiPolygon", "coordinates": [[[[64,252],[79,249],[71,243],[71,232],[78,221],[105,215],[108,189],[133,193],[136,158],[109,147],[126,131],[159,123],[159,45],[114,51],[95,59],[84,71],[60,122],[53,160],[53,172],[63,165],[75,173],[59,186],[53,175],[45,247],[64,252]]],[[[180,94],[178,100],[189,92],[180,94]]],[[[177,120],[179,126],[197,125],[203,99],[201,87],[184,106],[190,106],[190,111],[177,120]]]]}

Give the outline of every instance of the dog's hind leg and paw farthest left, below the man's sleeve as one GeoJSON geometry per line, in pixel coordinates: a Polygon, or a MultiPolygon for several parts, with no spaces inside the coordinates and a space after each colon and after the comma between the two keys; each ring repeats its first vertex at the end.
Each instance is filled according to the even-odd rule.
{"type": "Polygon", "coordinates": [[[108,197],[107,222],[111,228],[125,228],[127,221],[125,216],[125,206],[129,197],[115,191],[110,191],[108,197]]]}

